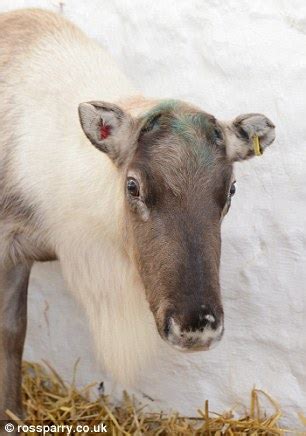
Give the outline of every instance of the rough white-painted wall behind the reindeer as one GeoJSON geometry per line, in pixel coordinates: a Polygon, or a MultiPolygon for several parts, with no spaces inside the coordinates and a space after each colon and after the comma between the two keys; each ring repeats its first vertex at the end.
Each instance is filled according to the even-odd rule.
{"type": "MultiPolygon", "coordinates": [[[[276,124],[264,157],[236,167],[237,194],[223,225],[223,341],[196,355],[165,345],[138,391],[159,407],[192,413],[206,398],[218,411],[246,403],[256,385],[295,423],[306,412],[305,1],[62,3],[145,94],[186,99],[219,118],[263,112],[276,124]]],[[[0,0],[0,10],[59,4],[0,0]]],[[[80,383],[105,379],[57,264],[34,268],[29,312],[26,358],[45,358],[69,379],[81,357],[80,383]]]]}

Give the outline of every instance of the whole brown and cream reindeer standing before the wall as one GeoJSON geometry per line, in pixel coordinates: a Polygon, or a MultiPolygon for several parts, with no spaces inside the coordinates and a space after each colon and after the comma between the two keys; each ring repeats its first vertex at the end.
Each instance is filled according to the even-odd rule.
{"type": "Polygon", "coordinates": [[[0,119],[0,418],[22,413],[33,262],[59,260],[117,380],[160,337],[180,351],[217,343],[233,163],[253,141],[263,152],[273,123],[146,99],[98,44],[37,9],[0,15],[0,119]]]}

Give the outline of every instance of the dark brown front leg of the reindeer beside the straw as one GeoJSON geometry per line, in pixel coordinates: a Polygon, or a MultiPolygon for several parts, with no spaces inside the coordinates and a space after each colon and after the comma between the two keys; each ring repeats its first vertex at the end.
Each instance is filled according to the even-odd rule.
{"type": "Polygon", "coordinates": [[[21,360],[30,270],[25,265],[0,265],[0,434],[7,409],[22,414],[21,360]]]}

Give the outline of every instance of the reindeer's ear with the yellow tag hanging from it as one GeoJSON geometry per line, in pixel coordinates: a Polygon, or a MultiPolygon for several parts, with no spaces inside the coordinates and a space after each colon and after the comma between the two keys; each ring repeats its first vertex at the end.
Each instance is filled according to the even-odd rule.
{"type": "Polygon", "coordinates": [[[264,152],[275,139],[275,126],[265,115],[245,114],[223,123],[230,161],[249,159],[264,152]]]}

